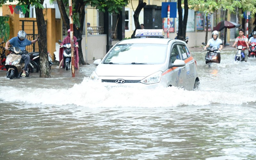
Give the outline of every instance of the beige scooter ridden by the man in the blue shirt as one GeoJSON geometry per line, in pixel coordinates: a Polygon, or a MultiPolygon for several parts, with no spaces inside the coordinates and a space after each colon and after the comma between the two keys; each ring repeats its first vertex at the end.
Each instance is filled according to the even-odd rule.
{"type": "MultiPolygon", "coordinates": [[[[9,48],[9,51],[11,52],[5,60],[5,68],[7,70],[6,77],[10,79],[20,78],[20,75],[23,72],[22,69],[25,67],[25,62],[22,59],[21,54],[27,53],[28,51],[21,51],[19,47],[12,46],[9,48]]],[[[26,70],[26,77],[28,77],[31,72],[33,72],[33,66],[29,63],[26,70]]]]}

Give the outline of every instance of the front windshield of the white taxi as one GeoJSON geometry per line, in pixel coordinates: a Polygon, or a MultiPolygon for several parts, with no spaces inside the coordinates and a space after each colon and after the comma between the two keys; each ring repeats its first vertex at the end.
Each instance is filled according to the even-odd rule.
{"type": "Polygon", "coordinates": [[[117,44],[105,58],[108,64],[163,64],[167,44],[117,44]]]}

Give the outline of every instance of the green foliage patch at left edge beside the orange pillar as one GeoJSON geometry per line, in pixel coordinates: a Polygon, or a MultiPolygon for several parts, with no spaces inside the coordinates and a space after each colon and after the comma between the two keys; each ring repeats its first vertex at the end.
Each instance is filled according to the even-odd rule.
{"type": "Polygon", "coordinates": [[[0,16],[0,38],[3,38],[4,41],[7,41],[10,36],[10,26],[8,24],[8,16],[0,16]]]}

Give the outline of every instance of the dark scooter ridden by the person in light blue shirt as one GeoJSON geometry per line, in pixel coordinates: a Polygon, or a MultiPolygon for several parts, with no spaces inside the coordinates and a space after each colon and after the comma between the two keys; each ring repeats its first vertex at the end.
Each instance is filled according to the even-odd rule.
{"type": "MultiPolygon", "coordinates": [[[[202,43],[206,45],[204,42],[202,43]]],[[[222,45],[221,43],[220,45],[222,45]]],[[[207,53],[205,54],[205,63],[220,63],[220,52],[219,48],[215,46],[207,47],[205,50],[207,50],[207,53]]],[[[203,50],[203,51],[205,51],[203,50]]],[[[221,50],[222,51],[222,50],[221,50]]]]}

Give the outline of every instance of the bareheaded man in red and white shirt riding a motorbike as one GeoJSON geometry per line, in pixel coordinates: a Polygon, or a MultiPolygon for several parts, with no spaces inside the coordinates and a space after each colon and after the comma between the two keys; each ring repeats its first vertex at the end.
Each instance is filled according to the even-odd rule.
{"type": "Polygon", "coordinates": [[[232,47],[235,47],[235,45],[242,45],[243,47],[246,47],[244,50],[244,61],[247,62],[248,59],[248,49],[249,49],[249,44],[248,44],[248,38],[244,36],[244,29],[241,28],[238,30],[239,31],[239,36],[236,37],[236,41],[232,45],[232,47]]]}

